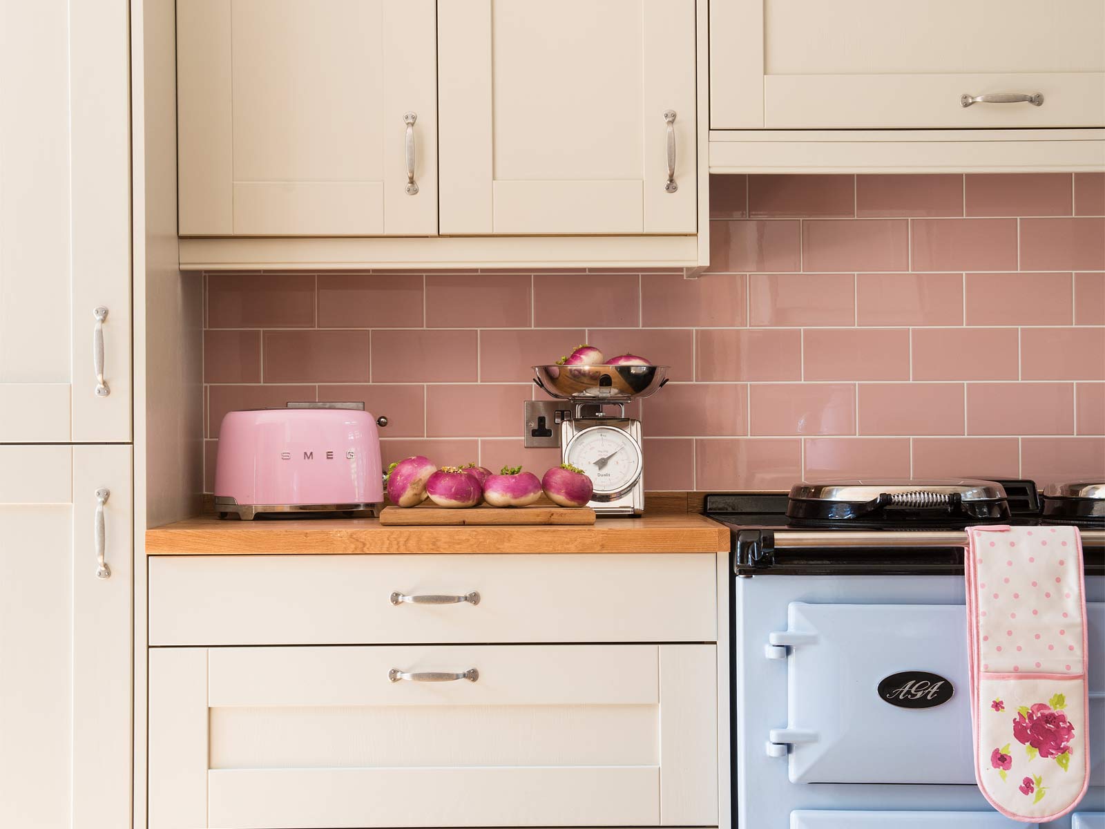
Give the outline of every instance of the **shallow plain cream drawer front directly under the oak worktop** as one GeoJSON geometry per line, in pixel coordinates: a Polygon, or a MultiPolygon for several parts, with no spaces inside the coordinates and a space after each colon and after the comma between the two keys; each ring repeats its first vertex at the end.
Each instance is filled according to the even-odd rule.
{"type": "Polygon", "coordinates": [[[712,554],[167,556],[149,583],[152,646],[717,639],[712,554]]]}

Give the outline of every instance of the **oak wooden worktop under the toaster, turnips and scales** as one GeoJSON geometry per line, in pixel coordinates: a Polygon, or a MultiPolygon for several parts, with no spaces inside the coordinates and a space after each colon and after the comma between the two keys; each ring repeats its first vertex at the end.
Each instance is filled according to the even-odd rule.
{"type": "Polygon", "coordinates": [[[380,526],[376,518],[221,520],[146,531],[151,556],[341,553],[724,553],[729,531],[702,515],[599,518],[593,526],[380,526]]]}

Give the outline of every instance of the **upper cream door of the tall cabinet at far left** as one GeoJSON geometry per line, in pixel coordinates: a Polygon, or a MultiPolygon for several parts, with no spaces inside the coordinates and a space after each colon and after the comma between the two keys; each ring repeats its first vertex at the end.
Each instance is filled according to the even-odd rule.
{"type": "Polygon", "coordinates": [[[130,439],[127,55],[126,2],[0,0],[0,443],[130,439]]]}

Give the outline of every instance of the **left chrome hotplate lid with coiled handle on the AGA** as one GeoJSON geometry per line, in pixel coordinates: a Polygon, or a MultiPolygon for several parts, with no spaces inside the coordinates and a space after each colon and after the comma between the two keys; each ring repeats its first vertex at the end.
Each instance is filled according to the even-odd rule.
{"type": "Polygon", "coordinates": [[[1007,524],[1004,487],[996,481],[860,480],[801,483],[790,490],[792,527],[957,529],[1007,524]]]}

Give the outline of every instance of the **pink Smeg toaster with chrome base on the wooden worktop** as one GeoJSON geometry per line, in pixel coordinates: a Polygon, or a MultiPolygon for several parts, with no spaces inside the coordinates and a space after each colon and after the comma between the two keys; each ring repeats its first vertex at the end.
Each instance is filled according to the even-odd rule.
{"type": "Polygon", "coordinates": [[[227,412],[219,428],[215,512],[245,520],[262,513],[376,514],[383,502],[376,426],[364,403],[227,412]]]}

